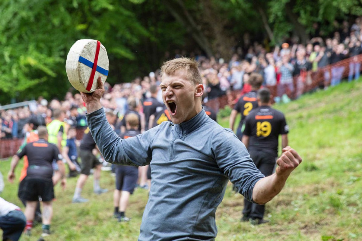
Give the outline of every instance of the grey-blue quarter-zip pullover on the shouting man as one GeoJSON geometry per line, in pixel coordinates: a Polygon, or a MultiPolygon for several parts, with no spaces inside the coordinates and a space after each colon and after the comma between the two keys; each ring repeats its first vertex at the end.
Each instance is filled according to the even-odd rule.
{"type": "Polygon", "coordinates": [[[189,121],[162,122],[127,139],[113,132],[103,108],[86,116],[107,162],[151,165],[139,241],[214,240],[215,212],[228,180],[253,201],[254,185],[264,177],[235,134],[203,109],[189,121]]]}

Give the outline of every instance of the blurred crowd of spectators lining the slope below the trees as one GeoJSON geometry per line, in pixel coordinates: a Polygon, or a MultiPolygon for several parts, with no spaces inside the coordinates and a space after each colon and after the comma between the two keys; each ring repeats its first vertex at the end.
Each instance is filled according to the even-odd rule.
{"type": "MultiPolygon", "coordinates": [[[[204,102],[230,94],[231,91],[240,91],[240,95],[250,91],[248,79],[253,72],[264,76],[264,86],[277,90],[274,96],[276,102],[289,101],[310,90],[308,86],[313,79],[320,76],[323,79],[319,83],[320,88],[338,85],[346,66],[337,64],[331,65],[331,68],[327,67],[348,57],[353,57],[348,66],[348,81],[359,78],[361,60],[356,56],[362,53],[362,18],[358,17],[352,26],[344,21],[341,28],[326,39],[319,37],[318,25],[313,27],[314,36],[306,45],[291,39],[281,44],[281,47],[275,46],[273,50],[267,51],[262,44],[254,42],[247,49],[236,48],[230,61],[221,57],[206,58],[194,55],[200,63],[199,69],[207,92],[204,102]]],[[[117,114],[117,132],[121,119],[130,109],[130,99],[133,100],[132,103],[136,103],[133,107],[135,111],[142,115],[142,102],[151,96],[150,87],[158,86],[160,79],[156,70],[129,83],[117,83],[114,86],[105,83],[106,91],[101,103],[106,109],[117,114]]],[[[160,90],[157,100],[162,103],[160,90]]],[[[233,103],[235,98],[230,99],[230,104],[233,103]]],[[[85,107],[80,94],[73,95],[67,92],[62,100],[53,99],[48,102],[39,98],[35,106],[0,111],[0,138],[23,138],[23,127],[29,118],[36,118],[40,124],[46,125],[52,120],[53,109],[62,109],[66,113],[65,121],[68,124],[77,128],[87,126],[85,107]]],[[[217,106],[215,110],[218,110],[217,106]]]]}

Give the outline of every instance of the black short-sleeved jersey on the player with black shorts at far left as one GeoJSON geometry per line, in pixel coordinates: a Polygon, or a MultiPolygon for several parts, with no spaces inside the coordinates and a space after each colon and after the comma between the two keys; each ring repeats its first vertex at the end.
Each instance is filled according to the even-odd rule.
{"type": "Polygon", "coordinates": [[[35,142],[28,143],[20,153],[16,154],[19,158],[28,156],[27,177],[48,178],[53,176],[52,161],[62,160],[58,147],[52,143],[39,139],[35,142]]]}

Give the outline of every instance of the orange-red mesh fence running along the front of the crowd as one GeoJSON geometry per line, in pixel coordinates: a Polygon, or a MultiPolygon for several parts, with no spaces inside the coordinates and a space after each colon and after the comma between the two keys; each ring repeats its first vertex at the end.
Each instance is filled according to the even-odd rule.
{"type": "MultiPolygon", "coordinates": [[[[316,72],[308,71],[298,76],[294,76],[293,90],[286,88],[285,91],[280,91],[281,85],[266,87],[270,89],[271,95],[273,97],[287,94],[290,99],[296,99],[303,93],[306,93],[318,87],[328,86],[331,83],[331,79],[335,77],[338,67],[343,67],[343,69],[340,68],[339,71],[341,72],[341,78],[345,78],[349,75],[350,63],[361,62],[362,55],[358,55],[350,57],[349,59],[339,61],[338,63],[319,68],[316,72]]],[[[359,65],[358,71],[361,71],[361,65],[359,65]]],[[[240,90],[228,91],[226,95],[209,100],[206,103],[206,106],[209,106],[217,111],[227,105],[233,106],[240,96],[240,90]]],[[[85,128],[77,129],[76,138],[78,140],[82,139],[84,130],[85,128]]],[[[9,156],[13,156],[14,154],[16,154],[16,151],[19,149],[22,141],[23,139],[0,139],[0,159],[8,158],[9,156]]]]}

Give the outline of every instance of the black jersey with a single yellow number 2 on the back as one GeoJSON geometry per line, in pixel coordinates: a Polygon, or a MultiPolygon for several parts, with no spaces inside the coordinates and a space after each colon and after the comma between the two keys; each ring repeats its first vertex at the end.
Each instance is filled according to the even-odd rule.
{"type": "Polygon", "coordinates": [[[237,112],[241,113],[241,119],[238,128],[241,128],[241,126],[243,126],[245,117],[249,115],[249,112],[252,109],[258,107],[258,101],[256,97],[257,97],[257,91],[252,90],[246,93],[245,95],[241,96],[240,99],[235,104],[234,109],[237,112]]]}

